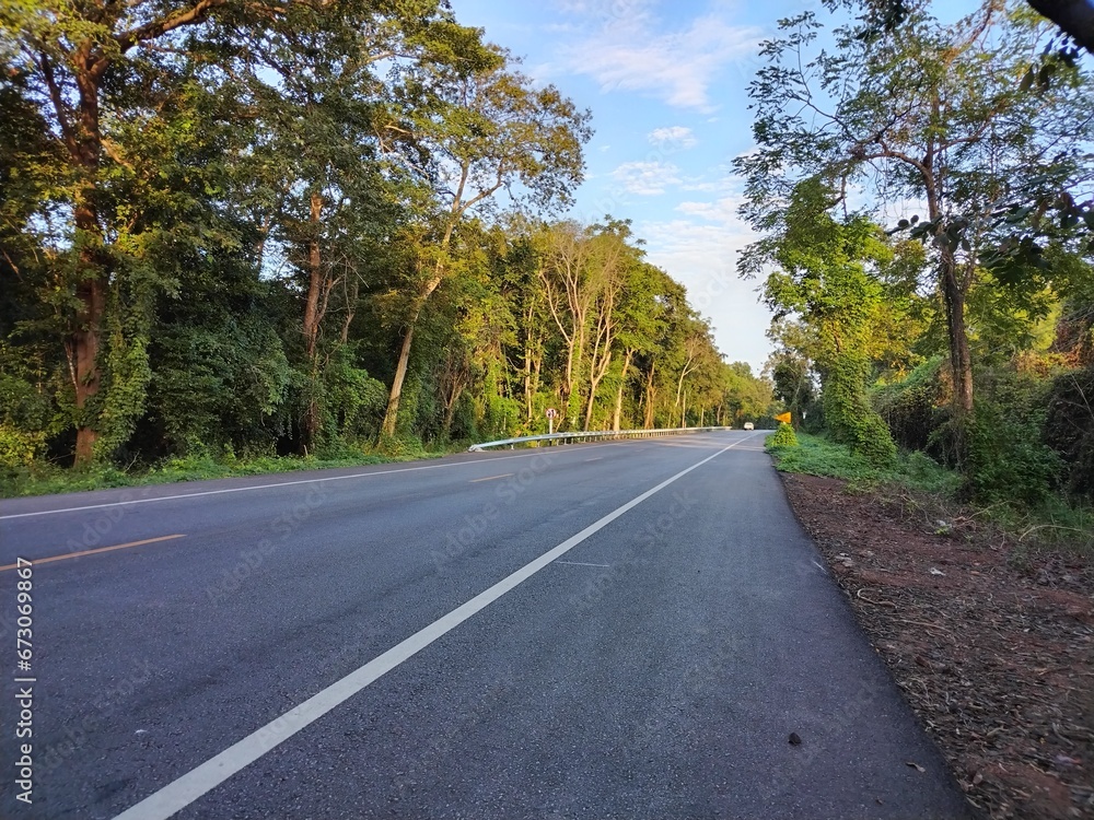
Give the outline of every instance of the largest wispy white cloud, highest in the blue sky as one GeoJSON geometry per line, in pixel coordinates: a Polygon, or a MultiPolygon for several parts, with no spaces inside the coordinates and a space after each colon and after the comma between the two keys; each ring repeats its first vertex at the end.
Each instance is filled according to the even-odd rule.
{"type": "Polygon", "coordinates": [[[665,31],[641,0],[612,3],[607,15],[594,5],[568,3],[571,13],[600,17],[601,25],[562,48],[567,69],[592,77],[604,91],[637,91],[679,108],[711,110],[709,87],[728,66],[753,55],[760,36],[759,30],[733,25],[719,13],[665,31]]]}

